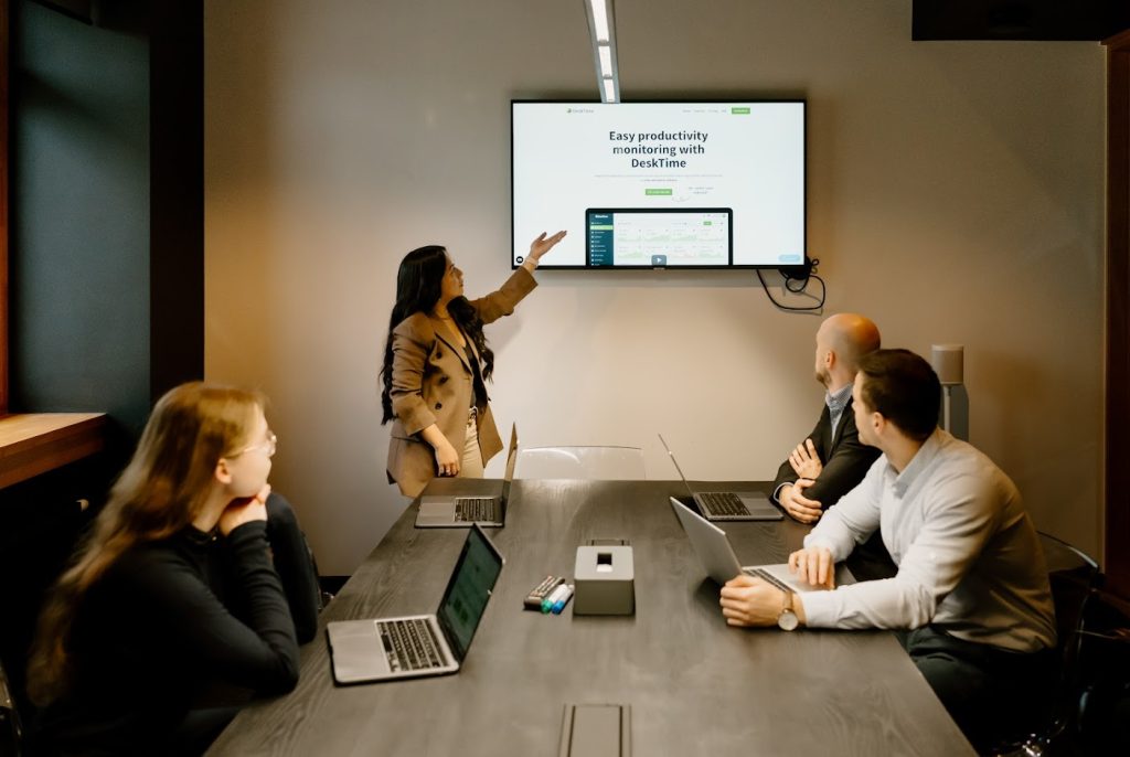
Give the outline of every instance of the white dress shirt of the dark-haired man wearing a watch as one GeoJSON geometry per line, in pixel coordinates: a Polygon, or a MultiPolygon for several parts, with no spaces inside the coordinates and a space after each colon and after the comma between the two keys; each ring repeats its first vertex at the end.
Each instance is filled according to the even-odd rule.
{"type": "Polygon", "coordinates": [[[898,573],[803,595],[807,624],[940,627],[1017,652],[1055,643],[1048,569],[1012,481],[983,453],[937,429],[906,469],[880,455],[805,538],[844,559],[881,525],[898,573]]]}

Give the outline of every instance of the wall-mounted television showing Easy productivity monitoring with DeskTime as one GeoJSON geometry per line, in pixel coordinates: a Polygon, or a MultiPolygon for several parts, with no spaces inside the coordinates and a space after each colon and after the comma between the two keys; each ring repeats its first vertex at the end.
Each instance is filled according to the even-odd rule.
{"type": "Polygon", "coordinates": [[[511,266],[783,268],[806,261],[805,101],[511,102],[511,266]]]}

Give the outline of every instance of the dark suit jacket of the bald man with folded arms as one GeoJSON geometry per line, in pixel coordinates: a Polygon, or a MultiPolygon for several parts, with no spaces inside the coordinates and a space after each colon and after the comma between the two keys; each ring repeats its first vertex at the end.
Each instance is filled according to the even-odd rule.
{"type": "MultiPolygon", "coordinates": [[[[824,406],[820,419],[816,423],[816,428],[808,438],[812,440],[816,454],[824,464],[824,470],[816,479],[816,484],[805,489],[805,496],[816,499],[824,510],[840,502],[840,497],[855,488],[863,480],[868,468],[879,456],[878,447],[867,446],[859,441],[859,429],[855,428],[855,414],[852,411],[851,399],[844,408],[844,414],[840,417],[835,436],[832,435],[832,415],[828,406],[824,406]]],[[[773,481],[775,493],[782,484],[794,484],[797,473],[792,465],[785,460],[777,470],[776,480],[773,481]]]]}

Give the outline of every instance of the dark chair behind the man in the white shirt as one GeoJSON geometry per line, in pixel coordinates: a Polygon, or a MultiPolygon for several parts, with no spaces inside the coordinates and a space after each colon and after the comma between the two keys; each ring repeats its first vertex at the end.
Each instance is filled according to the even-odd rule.
{"type": "MultiPolygon", "coordinates": [[[[1032,731],[998,743],[1001,757],[1041,757],[1062,754],[1058,745],[1077,728],[1083,697],[1079,650],[1087,602],[1097,586],[1098,563],[1061,539],[1038,532],[1048,563],[1048,578],[1055,606],[1057,660],[1059,669],[1049,701],[1032,731]]],[[[1070,754],[1070,752],[1069,752],[1070,754]]]]}

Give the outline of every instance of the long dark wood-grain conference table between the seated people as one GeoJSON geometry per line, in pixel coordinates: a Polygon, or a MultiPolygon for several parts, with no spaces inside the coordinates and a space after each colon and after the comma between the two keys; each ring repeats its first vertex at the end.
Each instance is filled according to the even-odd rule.
{"type": "MultiPolygon", "coordinates": [[[[437,479],[427,494],[499,486],[437,479]]],[[[893,634],[727,626],[668,502],[685,495],[681,481],[514,481],[505,527],[487,530],[506,563],[462,669],[338,686],[325,623],[440,603],[467,532],[414,528],[414,503],[322,612],[297,688],[247,706],[208,754],[551,756],[567,704],[629,705],[637,757],[975,754],[893,634]],[[572,578],[577,546],[606,538],[633,547],[634,616],[523,610],[546,575],[572,578]]],[[[723,528],[742,565],[782,563],[808,532],[788,519],[723,528]]]]}

